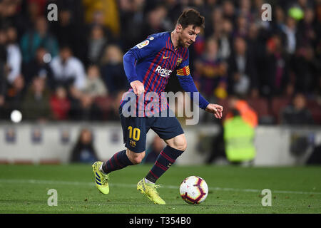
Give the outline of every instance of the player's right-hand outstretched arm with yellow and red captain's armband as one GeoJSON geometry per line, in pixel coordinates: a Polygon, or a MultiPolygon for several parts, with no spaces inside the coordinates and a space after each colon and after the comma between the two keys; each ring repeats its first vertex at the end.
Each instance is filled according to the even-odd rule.
{"type": "Polygon", "coordinates": [[[190,76],[190,68],[188,66],[188,58],[180,64],[180,67],[177,70],[178,81],[180,82],[180,86],[182,86],[183,90],[186,92],[190,92],[190,98],[193,100],[194,92],[198,93],[198,105],[200,108],[204,109],[209,113],[213,113],[215,118],[222,118],[223,115],[223,107],[221,105],[209,103],[203,95],[201,95],[196,88],[195,83],[193,81],[192,76],[190,76]]]}

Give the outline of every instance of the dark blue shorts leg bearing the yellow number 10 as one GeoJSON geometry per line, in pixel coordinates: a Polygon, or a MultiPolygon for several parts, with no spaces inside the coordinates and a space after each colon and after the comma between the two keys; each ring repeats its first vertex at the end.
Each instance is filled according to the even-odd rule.
{"type": "Polygon", "coordinates": [[[123,128],[123,142],[131,152],[141,153],[146,150],[146,119],[143,117],[124,117],[120,114],[123,128]]]}

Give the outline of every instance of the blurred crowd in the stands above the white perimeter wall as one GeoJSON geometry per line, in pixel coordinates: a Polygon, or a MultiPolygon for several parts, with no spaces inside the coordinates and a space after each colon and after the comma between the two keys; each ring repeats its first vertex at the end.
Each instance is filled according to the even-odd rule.
{"type": "MultiPolygon", "coordinates": [[[[205,16],[190,47],[205,98],[229,108],[237,96],[262,124],[321,123],[320,0],[0,0],[0,119],[118,120],[123,53],[188,7],[205,16]]],[[[175,72],[166,90],[181,90],[175,72]]]]}

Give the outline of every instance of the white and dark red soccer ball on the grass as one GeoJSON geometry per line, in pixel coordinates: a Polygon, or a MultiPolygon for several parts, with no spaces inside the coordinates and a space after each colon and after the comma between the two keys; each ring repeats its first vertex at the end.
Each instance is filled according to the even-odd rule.
{"type": "Polygon", "coordinates": [[[200,204],[208,197],[208,184],[201,177],[187,177],[180,184],[180,197],[188,204],[200,204]]]}

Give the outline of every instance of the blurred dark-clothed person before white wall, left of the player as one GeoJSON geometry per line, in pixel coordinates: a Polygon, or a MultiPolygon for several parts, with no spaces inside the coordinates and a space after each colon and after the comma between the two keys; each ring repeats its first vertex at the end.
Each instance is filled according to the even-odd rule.
{"type": "Polygon", "coordinates": [[[71,162],[92,163],[98,160],[93,145],[93,133],[88,128],[81,129],[76,144],[71,150],[71,162]]]}

